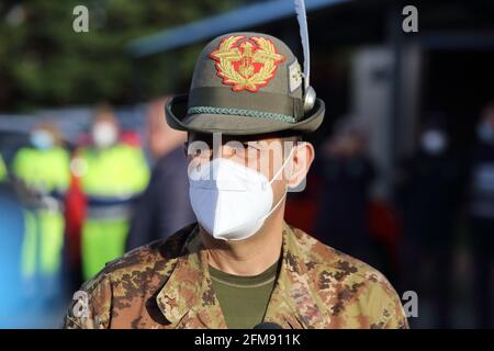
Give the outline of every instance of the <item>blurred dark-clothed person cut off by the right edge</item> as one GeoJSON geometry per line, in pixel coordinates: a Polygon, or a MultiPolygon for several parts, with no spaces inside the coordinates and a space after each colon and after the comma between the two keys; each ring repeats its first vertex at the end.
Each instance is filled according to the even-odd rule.
{"type": "Polygon", "coordinates": [[[478,125],[478,143],[471,155],[469,224],[474,262],[475,315],[479,328],[493,328],[494,298],[494,102],[478,125]]]}

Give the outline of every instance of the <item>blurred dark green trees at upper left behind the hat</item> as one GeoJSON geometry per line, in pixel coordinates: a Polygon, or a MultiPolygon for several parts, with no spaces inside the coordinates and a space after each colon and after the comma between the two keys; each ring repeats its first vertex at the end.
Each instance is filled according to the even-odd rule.
{"type": "MultiPolygon", "coordinates": [[[[0,110],[136,101],[189,78],[198,47],[133,61],[128,41],[232,9],[243,0],[30,0],[0,4],[0,110]],[[76,33],[72,10],[89,10],[76,33]]],[[[179,87],[180,88],[180,87],[179,87]]]]}

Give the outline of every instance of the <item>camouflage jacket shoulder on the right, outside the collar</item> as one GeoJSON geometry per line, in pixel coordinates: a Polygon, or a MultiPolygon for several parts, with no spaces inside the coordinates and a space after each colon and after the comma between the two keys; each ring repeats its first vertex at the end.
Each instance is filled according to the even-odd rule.
{"type": "Polygon", "coordinates": [[[302,230],[293,230],[306,279],[332,318],[355,328],[406,328],[401,299],[377,269],[322,244],[302,230]],[[353,317],[351,317],[353,316],[353,317]],[[357,317],[355,317],[357,316],[357,317]]]}

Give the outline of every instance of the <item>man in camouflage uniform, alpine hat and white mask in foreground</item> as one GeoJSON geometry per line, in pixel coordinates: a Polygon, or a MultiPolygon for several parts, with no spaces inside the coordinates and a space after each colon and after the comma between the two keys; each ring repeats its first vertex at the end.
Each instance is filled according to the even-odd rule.
{"type": "MultiPolygon", "coordinates": [[[[167,121],[189,132],[189,144],[210,144],[218,132],[227,141],[239,140],[240,146],[222,143],[220,158],[244,163],[250,157],[243,149],[247,144],[254,157],[268,159],[269,167],[260,173],[272,179],[270,211],[255,233],[235,240],[218,238],[216,225],[214,230],[203,225],[204,207],[217,203],[194,206],[191,189],[199,224],[109,263],[78,292],[66,328],[251,328],[259,322],[282,328],[407,328],[400,298],[381,273],[283,220],[287,189],[302,182],[314,159],[313,147],[300,135],[315,131],[324,116],[324,102],[303,80],[294,55],[272,36],[234,33],[206,45],[189,95],[167,103],[167,121]],[[293,140],[282,165],[276,163],[271,145],[293,140]],[[257,141],[269,147],[250,149],[257,141]],[[290,169],[290,177],[274,179],[283,168],[290,169]],[[272,278],[257,284],[268,271],[272,278]],[[255,284],[238,290],[245,281],[255,284]],[[235,301],[236,295],[243,299],[235,301]]],[[[189,152],[189,172],[217,157],[189,152]]],[[[258,200],[251,201],[257,206],[258,200]]],[[[223,214],[235,217],[236,208],[251,210],[242,205],[229,202],[229,213],[223,214]]]]}

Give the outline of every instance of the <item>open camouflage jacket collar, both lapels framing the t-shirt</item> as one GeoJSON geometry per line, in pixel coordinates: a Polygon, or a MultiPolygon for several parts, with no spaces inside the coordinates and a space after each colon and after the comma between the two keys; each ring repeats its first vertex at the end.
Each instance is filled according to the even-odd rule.
{"type": "MultiPolygon", "coordinates": [[[[265,316],[265,321],[283,328],[314,328],[324,320],[322,302],[306,274],[306,258],[300,245],[290,226],[283,224],[280,273],[265,316]]],[[[226,328],[199,226],[189,235],[167,283],[157,295],[157,304],[176,328],[226,328]]]]}

